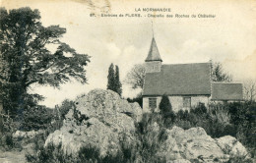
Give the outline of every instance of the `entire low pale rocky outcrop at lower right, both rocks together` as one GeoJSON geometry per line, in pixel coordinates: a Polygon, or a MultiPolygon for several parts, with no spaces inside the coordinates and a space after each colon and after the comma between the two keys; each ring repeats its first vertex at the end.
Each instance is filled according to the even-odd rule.
{"type": "Polygon", "coordinates": [[[247,154],[245,147],[236,138],[223,136],[214,139],[208,136],[203,128],[183,130],[174,126],[166,132],[167,138],[161,145],[160,155],[169,162],[173,162],[173,160],[184,162],[191,159],[207,162],[214,159],[226,160],[229,156],[245,156],[247,154]]]}

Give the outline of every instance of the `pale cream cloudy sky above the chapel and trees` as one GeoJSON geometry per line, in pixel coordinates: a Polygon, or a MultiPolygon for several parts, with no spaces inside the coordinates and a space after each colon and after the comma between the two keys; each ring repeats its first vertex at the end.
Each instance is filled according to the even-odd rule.
{"type": "MultiPolygon", "coordinates": [[[[256,79],[256,1],[100,1],[92,0],[2,0],[7,9],[30,6],[39,9],[44,26],[66,27],[63,41],[79,53],[92,56],[87,67],[89,84],[76,81],[61,89],[34,86],[33,91],[46,96],[43,104],[53,107],[63,99],[74,99],[93,88],[106,88],[110,63],[119,66],[120,78],[135,64],[144,63],[155,38],[163,64],[208,62],[224,64],[234,81],[256,79]],[[135,8],[171,8],[169,14],[213,14],[215,19],[167,18],[91,18],[106,5],[111,14],[135,13],[135,8]]],[[[148,15],[148,13],[142,13],[148,15]]],[[[150,13],[153,14],[153,13],[150,13]]],[[[157,12],[156,14],[160,14],[157,12]]],[[[123,96],[138,91],[123,85],[123,96]]]]}

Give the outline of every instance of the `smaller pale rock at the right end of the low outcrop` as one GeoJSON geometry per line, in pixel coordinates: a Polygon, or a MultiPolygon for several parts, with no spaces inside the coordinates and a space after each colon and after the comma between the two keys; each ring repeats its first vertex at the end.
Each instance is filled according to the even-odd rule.
{"type": "Polygon", "coordinates": [[[217,144],[224,150],[224,153],[234,156],[246,156],[246,148],[233,136],[216,138],[217,144]]]}

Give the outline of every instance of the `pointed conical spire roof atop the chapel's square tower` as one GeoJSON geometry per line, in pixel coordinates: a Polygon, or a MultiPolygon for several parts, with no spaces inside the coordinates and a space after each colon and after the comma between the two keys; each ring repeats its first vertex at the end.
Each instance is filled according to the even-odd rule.
{"type": "Polygon", "coordinates": [[[160,59],[160,52],[155,40],[155,37],[153,35],[152,38],[152,42],[151,42],[151,48],[148,54],[147,59],[145,60],[145,62],[151,62],[151,61],[160,61],[162,62],[162,60],[160,59]]]}

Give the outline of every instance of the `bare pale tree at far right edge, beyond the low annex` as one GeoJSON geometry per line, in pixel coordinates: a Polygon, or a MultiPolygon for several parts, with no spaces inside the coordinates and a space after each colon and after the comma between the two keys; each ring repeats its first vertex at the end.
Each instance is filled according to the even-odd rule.
{"type": "Polygon", "coordinates": [[[248,80],[243,83],[243,92],[245,100],[249,102],[255,101],[256,96],[256,81],[248,80]]]}

